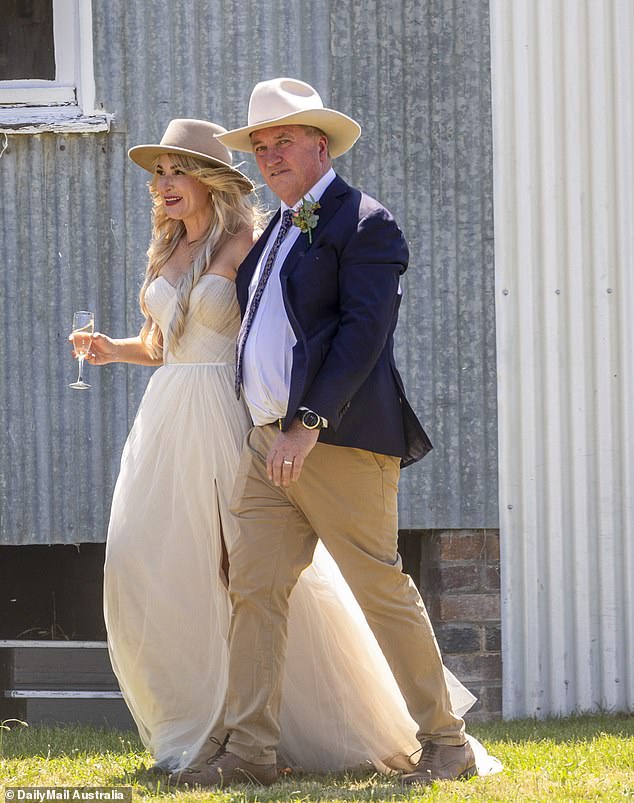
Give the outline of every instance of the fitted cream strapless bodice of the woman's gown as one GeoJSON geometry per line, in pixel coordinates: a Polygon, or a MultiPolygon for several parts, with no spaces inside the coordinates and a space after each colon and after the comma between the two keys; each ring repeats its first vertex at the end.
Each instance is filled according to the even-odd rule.
{"type": "MultiPolygon", "coordinates": [[[[176,308],[176,288],[159,276],[148,287],[145,303],[165,342],[176,308]]],[[[191,292],[180,341],[174,349],[167,343],[165,363],[233,363],[239,328],[235,283],[226,276],[206,273],[191,292]]]]}

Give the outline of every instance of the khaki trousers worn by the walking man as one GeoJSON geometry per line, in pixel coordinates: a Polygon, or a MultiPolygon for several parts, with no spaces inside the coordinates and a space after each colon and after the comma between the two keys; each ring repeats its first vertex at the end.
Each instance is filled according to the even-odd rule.
{"type": "Polygon", "coordinates": [[[398,459],[317,443],[299,480],[277,488],[266,455],[278,433],[275,425],[249,432],[231,505],[239,535],[229,548],[227,749],[254,763],[275,762],[288,599],[318,538],[359,602],[419,740],[462,744],[464,722],[451,710],[427,611],[401,570],[398,459]]]}

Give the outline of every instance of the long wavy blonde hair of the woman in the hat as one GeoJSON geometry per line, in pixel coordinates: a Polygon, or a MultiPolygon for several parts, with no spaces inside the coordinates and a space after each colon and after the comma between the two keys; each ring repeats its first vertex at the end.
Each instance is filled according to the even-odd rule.
{"type": "Polygon", "coordinates": [[[174,253],[176,246],[186,236],[186,230],[182,220],[173,220],[165,213],[163,202],[156,189],[156,173],[149,184],[153,207],[152,239],[147,251],[145,278],[139,293],[141,312],[145,317],[140,336],[155,359],[161,357],[164,345],[169,344],[173,349],[178,344],[185,327],[191,291],[211,265],[214,256],[231,237],[243,229],[247,227],[261,229],[263,219],[258,204],[251,200],[245,185],[236,179],[236,174],[230,168],[212,167],[201,159],[184,154],[173,153],[170,157],[174,167],[179,167],[186,175],[193,176],[209,188],[212,203],[209,225],[197,241],[196,256],[189,270],[178,281],[176,308],[167,332],[167,342],[164,344],[158,323],[152,318],[145,303],[145,294],[174,253]]]}

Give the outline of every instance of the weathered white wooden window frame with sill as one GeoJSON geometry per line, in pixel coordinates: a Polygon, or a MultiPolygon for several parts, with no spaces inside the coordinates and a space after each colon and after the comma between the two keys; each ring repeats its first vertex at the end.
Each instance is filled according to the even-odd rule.
{"type": "Polygon", "coordinates": [[[108,131],[95,109],[92,0],[53,0],[55,80],[0,81],[0,132],[108,131]]]}

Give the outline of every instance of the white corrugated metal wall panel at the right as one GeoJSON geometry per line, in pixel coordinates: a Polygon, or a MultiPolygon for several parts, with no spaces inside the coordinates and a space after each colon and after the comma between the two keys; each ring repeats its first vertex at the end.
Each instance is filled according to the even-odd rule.
{"type": "Polygon", "coordinates": [[[634,4],[491,3],[504,711],[634,706],[634,4]]]}

